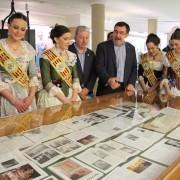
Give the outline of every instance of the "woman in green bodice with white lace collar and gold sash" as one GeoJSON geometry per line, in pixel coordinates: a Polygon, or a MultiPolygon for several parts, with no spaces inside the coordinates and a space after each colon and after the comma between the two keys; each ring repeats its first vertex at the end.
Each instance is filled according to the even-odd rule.
{"type": "Polygon", "coordinates": [[[38,107],[79,101],[81,91],[76,69],[76,55],[68,51],[70,30],[63,25],[56,25],[50,37],[54,47],[46,50],[40,59],[42,84],[44,89],[38,95],[38,107]]]}

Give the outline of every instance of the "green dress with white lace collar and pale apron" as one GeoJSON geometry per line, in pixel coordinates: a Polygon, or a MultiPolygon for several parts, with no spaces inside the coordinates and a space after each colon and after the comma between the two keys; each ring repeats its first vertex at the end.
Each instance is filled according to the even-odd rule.
{"type": "MultiPolygon", "coordinates": [[[[56,47],[51,48],[57,56],[61,58],[61,52],[56,47]]],[[[52,67],[46,55],[42,55],[40,59],[40,68],[42,76],[42,84],[44,89],[39,92],[37,106],[39,108],[50,107],[55,105],[61,105],[62,102],[55,97],[56,94],[60,93],[65,95],[67,98],[72,97],[73,89],[81,91],[79,78],[76,69],[77,57],[74,53],[66,51],[68,59],[65,59],[65,63],[71,71],[72,76],[72,88],[60,77],[57,71],[52,67]]],[[[80,101],[78,96],[77,101],[80,101]]]]}

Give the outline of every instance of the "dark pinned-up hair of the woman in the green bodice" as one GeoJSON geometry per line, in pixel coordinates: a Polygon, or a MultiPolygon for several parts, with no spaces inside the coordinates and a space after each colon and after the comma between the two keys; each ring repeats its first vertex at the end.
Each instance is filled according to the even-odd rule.
{"type": "Polygon", "coordinates": [[[55,44],[56,43],[54,40],[55,37],[58,38],[68,32],[70,32],[70,30],[66,26],[56,24],[55,27],[51,30],[50,38],[55,44]]]}

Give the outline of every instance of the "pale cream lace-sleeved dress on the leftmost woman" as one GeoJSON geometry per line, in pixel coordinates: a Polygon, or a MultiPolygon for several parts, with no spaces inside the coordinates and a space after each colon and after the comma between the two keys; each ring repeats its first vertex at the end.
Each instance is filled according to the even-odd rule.
{"type": "MultiPolygon", "coordinates": [[[[16,59],[17,63],[27,72],[29,76],[29,87],[39,86],[39,81],[37,78],[37,67],[35,64],[35,50],[33,47],[26,41],[21,41],[22,53],[16,54],[8,44],[6,39],[1,39],[0,44],[3,48],[16,59]]],[[[3,90],[9,89],[13,96],[23,99],[28,96],[28,89],[22,87],[15,79],[13,79],[10,74],[0,66],[0,92],[3,90]]],[[[6,98],[0,96],[0,115],[10,116],[19,114],[15,106],[13,106],[6,98]]],[[[28,111],[36,109],[35,98],[32,105],[29,107],[28,111]]]]}

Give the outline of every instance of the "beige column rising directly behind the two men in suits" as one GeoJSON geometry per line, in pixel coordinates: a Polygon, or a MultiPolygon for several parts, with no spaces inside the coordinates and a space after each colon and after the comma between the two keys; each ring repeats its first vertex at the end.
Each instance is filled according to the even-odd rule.
{"type": "Polygon", "coordinates": [[[104,41],[105,6],[95,3],[91,5],[91,10],[92,49],[96,52],[97,44],[104,41]]]}

